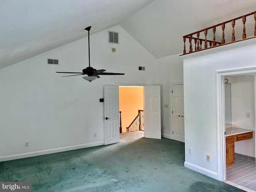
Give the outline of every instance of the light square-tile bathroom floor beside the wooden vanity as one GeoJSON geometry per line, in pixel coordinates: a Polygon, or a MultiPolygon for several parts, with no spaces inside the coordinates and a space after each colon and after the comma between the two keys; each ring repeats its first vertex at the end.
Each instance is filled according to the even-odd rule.
{"type": "Polygon", "coordinates": [[[247,192],[256,192],[256,162],[236,157],[235,163],[226,170],[226,183],[247,192]]]}

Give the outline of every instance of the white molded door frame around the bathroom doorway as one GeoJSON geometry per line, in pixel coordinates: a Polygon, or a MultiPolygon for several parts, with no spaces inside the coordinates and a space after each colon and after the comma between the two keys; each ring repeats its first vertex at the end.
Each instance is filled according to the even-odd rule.
{"type": "Polygon", "coordinates": [[[256,74],[256,67],[221,70],[216,72],[216,120],[217,120],[217,173],[218,180],[226,180],[225,137],[225,76],[256,74]]]}

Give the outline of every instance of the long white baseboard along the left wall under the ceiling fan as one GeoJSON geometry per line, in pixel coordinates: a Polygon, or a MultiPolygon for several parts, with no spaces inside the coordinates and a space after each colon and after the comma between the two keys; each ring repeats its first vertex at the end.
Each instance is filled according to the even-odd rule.
{"type": "Polygon", "coordinates": [[[15,155],[2,156],[2,157],[0,157],[0,162],[14,160],[14,159],[34,157],[34,156],[39,156],[39,155],[58,153],[58,152],[64,152],[64,151],[70,151],[70,150],[76,150],[76,149],[82,149],[82,148],[88,148],[88,147],[94,147],[94,146],[100,146],[100,145],[104,145],[104,141],[86,143],[86,144],[80,144],[80,145],[73,145],[73,146],[67,146],[67,147],[60,147],[60,148],[54,148],[54,149],[47,149],[47,150],[41,150],[41,151],[34,151],[34,152],[28,152],[28,153],[21,153],[21,154],[15,154],[15,155]]]}

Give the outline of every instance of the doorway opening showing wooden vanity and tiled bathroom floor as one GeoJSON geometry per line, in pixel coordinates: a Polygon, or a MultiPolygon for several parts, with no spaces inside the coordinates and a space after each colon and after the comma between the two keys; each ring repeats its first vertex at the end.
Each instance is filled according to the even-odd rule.
{"type": "Polygon", "coordinates": [[[254,77],[225,76],[224,106],[226,183],[256,191],[254,77]]]}

